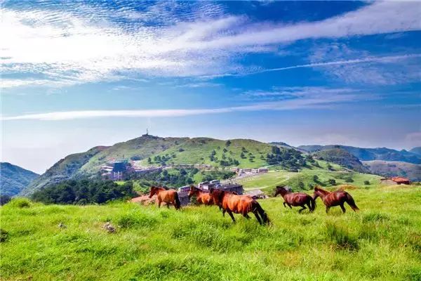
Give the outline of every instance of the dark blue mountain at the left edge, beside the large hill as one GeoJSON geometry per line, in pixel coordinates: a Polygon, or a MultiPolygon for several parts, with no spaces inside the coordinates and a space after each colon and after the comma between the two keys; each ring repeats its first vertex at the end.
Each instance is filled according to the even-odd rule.
{"type": "Polygon", "coordinates": [[[0,190],[1,195],[17,195],[29,183],[39,176],[33,171],[23,169],[7,162],[0,163],[0,190]]]}

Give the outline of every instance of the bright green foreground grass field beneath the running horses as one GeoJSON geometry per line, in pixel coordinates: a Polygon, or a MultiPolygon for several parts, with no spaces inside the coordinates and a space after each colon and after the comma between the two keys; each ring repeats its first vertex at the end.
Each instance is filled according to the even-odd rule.
{"type": "Polygon", "coordinates": [[[261,200],[269,228],[239,215],[233,224],[216,207],[9,203],[1,280],[421,280],[421,188],[349,192],[358,214],[261,200]]]}

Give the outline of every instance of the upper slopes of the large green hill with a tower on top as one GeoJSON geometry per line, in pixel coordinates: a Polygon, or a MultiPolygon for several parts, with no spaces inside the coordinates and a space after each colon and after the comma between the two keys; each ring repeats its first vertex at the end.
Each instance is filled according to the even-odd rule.
{"type": "MultiPolygon", "coordinates": [[[[209,164],[211,166],[239,166],[257,168],[270,162],[283,162],[286,169],[300,166],[300,152],[290,148],[277,148],[268,143],[247,139],[217,140],[214,138],[161,138],[143,135],[123,143],[98,146],[86,152],[68,155],[36,178],[21,195],[30,195],[55,183],[79,176],[98,175],[100,167],[112,159],[135,161],[136,166],[171,164],[209,164]],[[283,153],[284,151],[290,151],[283,153]]],[[[301,157],[302,158],[302,157],[301,157]]]]}

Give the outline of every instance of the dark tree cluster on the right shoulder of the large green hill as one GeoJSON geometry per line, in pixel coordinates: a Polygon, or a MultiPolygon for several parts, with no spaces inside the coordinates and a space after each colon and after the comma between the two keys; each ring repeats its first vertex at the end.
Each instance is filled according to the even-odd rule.
{"type": "Polygon", "coordinates": [[[289,169],[298,169],[306,166],[306,160],[298,150],[280,149],[277,146],[272,146],[272,153],[267,153],[266,162],[269,165],[279,164],[289,169]]]}

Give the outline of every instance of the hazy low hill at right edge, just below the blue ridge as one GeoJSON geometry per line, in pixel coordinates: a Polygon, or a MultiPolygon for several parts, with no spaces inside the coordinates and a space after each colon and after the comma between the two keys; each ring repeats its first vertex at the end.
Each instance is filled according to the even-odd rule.
{"type": "Polygon", "coordinates": [[[370,169],[373,174],[380,176],[403,176],[411,181],[421,181],[421,165],[407,162],[392,161],[365,161],[363,164],[370,169]]]}

